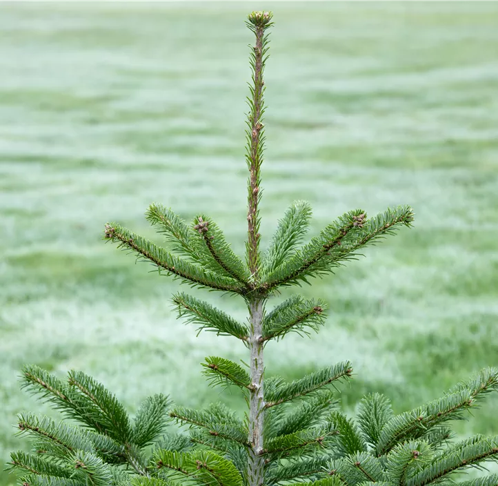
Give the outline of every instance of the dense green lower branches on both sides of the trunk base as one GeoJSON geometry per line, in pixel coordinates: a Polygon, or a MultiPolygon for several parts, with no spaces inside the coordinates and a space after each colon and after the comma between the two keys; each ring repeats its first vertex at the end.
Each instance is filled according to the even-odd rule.
{"type": "MultiPolygon", "coordinates": [[[[292,383],[269,381],[266,485],[450,485],[455,473],[498,460],[498,437],[455,442],[449,423],[498,389],[498,370],[483,370],[439,400],[399,415],[388,398],[372,393],[355,418],[343,414],[328,387],[349,374],[346,362],[292,383]]],[[[71,419],[19,415],[19,434],[29,436],[32,451],[14,452],[10,466],[24,486],[246,484],[247,425],[223,405],[197,411],[171,407],[156,395],[132,419],[84,373],[71,372],[63,381],[31,366],[23,370],[23,385],[71,419]],[[188,434],[168,433],[171,418],[190,425],[188,434]]],[[[462,484],[496,486],[498,476],[462,484]]]]}

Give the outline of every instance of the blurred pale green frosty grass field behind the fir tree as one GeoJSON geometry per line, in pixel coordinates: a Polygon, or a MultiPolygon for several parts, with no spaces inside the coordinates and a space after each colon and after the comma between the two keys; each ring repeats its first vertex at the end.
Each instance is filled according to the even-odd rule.
{"type": "MultiPolygon", "coordinates": [[[[350,359],[351,409],[368,391],[396,411],[498,365],[498,3],[3,2],[0,5],[0,459],[26,447],[27,362],[81,369],[126,403],[170,393],[201,407],[204,356],[230,338],[176,320],[176,282],[101,240],[117,220],[154,238],[150,202],[246,237],[244,15],[275,12],[266,70],[263,246],[292,200],[336,215],[411,204],[415,228],[302,293],[326,328],[267,347],[297,378],[350,359]]],[[[208,299],[239,318],[241,302],[208,299]]],[[[498,433],[498,398],[458,430],[498,433]]],[[[5,474],[0,484],[8,484],[5,474]]]]}

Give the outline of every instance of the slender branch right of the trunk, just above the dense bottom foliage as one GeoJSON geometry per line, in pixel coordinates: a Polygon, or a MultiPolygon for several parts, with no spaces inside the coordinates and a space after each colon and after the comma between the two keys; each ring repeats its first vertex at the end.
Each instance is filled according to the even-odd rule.
{"type": "Polygon", "coordinates": [[[347,380],[351,375],[351,363],[343,361],[337,363],[337,365],[310,373],[291,383],[283,382],[283,380],[268,380],[265,392],[266,408],[299,399],[327,385],[333,385],[340,380],[347,380]]]}

